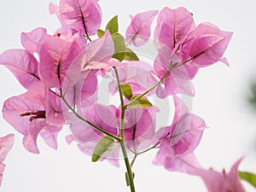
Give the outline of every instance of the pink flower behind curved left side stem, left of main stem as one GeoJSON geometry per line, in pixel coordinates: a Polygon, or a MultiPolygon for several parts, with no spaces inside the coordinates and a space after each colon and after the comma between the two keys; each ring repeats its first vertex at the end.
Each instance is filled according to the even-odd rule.
{"type": "MultiPolygon", "coordinates": [[[[112,133],[113,135],[118,135],[119,119],[117,118],[116,108],[113,106],[103,106],[100,104],[90,105],[86,108],[81,108],[80,113],[84,119],[93,122],[95,125],[102,127],[104,130],[112,133]]],[[[73,140],[77,142],[79,149],[88,155],[92,155],[96,144],[104,137],[100,131],[96,131],[90,125],[84,123],[77,119],[76,117],[69,116],[67,123],[70,124],[70,131],[72,132],[68,143],[73,140]]],[[[108,154],[106,157],[101,158],[101,160],[108,160],[113,166],[119,166],[119,148],[116,148],[112,153],[108,154]]]]}

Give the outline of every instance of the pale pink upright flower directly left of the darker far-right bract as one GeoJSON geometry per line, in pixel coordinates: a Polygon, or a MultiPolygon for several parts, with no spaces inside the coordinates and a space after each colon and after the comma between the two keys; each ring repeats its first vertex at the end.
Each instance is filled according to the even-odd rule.
{"type": "MultiPolygon", "coordinates": [[[[194,27],[192,14],[187,9],[161,10],[154,31],[154,45],[158,49],[158,55],[154,61],[154,72],[159,78],[164,76],[171,64],[181,63],[180,46],[194,27]]],[[[165,98],[178,93],[194,96],[194,87],[190,79],[194,78],[195,73],[197,69],[187,65],[172,69],[161,86],[157,88],[157,96],[165,98]]]]}

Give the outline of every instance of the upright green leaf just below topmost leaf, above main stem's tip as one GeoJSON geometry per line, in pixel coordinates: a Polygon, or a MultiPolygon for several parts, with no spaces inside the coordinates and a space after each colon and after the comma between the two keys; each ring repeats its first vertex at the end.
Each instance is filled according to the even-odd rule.
{"type": "Polygon", "coordinates": [[[114,54],[113,58],[123,61],[125,58],[125,38],[119,33],[114,33],[112,35],[113,44],[114,44],[114,54]]]}

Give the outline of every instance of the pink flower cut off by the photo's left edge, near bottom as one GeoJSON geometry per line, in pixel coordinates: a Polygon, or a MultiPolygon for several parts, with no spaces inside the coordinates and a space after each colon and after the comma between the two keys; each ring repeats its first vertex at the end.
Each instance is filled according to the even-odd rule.
{"type": "Polygon", "coordinates": [[[14,134],[9,134],[5,137],[0,137],[0,186],[3,180],[3,171],[5,169],[3,161],[5,160],[7,154],[9,154],[9,150],[13,147],[14,142],[14,134]]]}

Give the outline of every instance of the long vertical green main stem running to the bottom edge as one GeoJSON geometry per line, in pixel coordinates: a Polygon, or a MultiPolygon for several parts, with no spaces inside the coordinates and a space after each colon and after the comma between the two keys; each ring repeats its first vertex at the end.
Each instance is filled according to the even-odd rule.
{"type": "Polygon", "coordinates": [[[127,155],[127,151],[125,148],[125,102],[124,102],[124,97],[122,94],[122,89],[121,89],[121,84],[120,84],[120,80],[119,80],[119,73],[116,67],[113,67],[113,70],[115,72],[115,76],[116,76],[116,80],[117,80],[117,84],[118,84],[118,89],[119,89],[119,96],[120,96],[120,102],[121,102],[121,120],[120,120],[120,137],[122,138],[122,140],[120,141],[120,145],[122,148],[122,152],[123,152],[123,156],[124,156],[124,160],[125,160],[125,166],[126,166],[126,170],[127,170],[127,174],[128,174],[128,178],[129,178],[129,183],[130,183],[130,188],[131,188],[131,192],[136,192],[135,191],[135,186],[134,186],[134,182],[133,182],[133,174],[131,171],[131,165],[130,165],[130,161],[127,155]]]}

